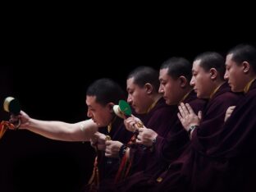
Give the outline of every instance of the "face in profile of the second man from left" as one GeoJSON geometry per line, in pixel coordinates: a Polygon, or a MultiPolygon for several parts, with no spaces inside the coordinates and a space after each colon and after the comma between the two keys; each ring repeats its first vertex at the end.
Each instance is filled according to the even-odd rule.
{"type": "Polygon", "coordinates": [[[134,80],[134,77],[126,80],[127,102],[134,108],[136,113],[143,114],[148,111],[151,105],[149,103],[149,89],[147,85],[139,87],[139,85],[135,84],[134,80]]]}

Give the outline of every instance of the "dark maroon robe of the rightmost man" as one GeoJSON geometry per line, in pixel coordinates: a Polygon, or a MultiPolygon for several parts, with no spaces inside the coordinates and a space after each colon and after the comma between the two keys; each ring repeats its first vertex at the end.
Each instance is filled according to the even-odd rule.
{"type": "MultiPolygon", "coordinates": [[[[222,191],[256,191],[256,81],[245,98],[237,103],[222,131],[217,134],[217,144],[208,146],[205,155],[214,160],[202,176],[222,176],[214,181],[214,189],[222,191]]],[[[213,161],[212,160],[212,161],[213,161]]],[[[195,190],[208,183],[192,185],[195,190]]],[[[201,188],[199,188],[201,187],[201,188]]],[[[213,190],[212,190],[213,191],[213,190]]]]}

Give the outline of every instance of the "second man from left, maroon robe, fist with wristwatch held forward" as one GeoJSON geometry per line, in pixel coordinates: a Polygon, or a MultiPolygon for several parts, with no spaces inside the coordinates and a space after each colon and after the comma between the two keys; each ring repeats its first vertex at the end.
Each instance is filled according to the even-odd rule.
{"type": "MultiPolygon", "coordinates": [[[[176,115],[176,112],[172,112],[172,108],[165,103],[162,94],[158,93],[158,89],[158,71],[152,67],[139,66],[134,71],[131,71],[127,77],[128,103],[133,107],[134,113],[140,117],[144,125],[152,126],[156,130],[162,129],[163,126],[169,123],[169,114],[176,115]]],[[[112,140],[104,142],[106,157],[112,158],[112,161],[119,163],[115,164],[111,171],[107,171],[107,176],[101,182],[100,191],[111,191],[118,180],[124,179],[127,170],[127,173],[129,173],[130,160],[128,159],[126,165],[122,164],[124,155],[127,155],[124,153],[133,153],[138,148],[135,144],[130,144],[129,141],[134,134],[130,131],[127,134],[127,131],[123,129],[118,130],[117,133],[113,132],[115,135],[113,135],[112,140]],[[123,135],[123,133],[126,135],[123,135]],[[129,139],[124,140],[123,137],[127,138],[127,135],[129,139]]],[[[150,153],[150,150],[145,146],[138,150],[141,153],[150,153]]],[[[135,160],[138,160],[138,158],[136,157],[135,160]]],[[[102,167],[106,167],[105,164],[102,167]]],[[[142,165],[138,167],[144,168],[142,165]]]]}

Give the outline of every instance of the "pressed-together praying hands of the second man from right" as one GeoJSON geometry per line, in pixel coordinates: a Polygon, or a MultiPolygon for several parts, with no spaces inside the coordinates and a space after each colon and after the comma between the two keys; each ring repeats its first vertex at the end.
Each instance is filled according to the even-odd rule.
{"type": "Polygon", "coordinates": [[[201,111],[199,111],[198,116],[195,115],[189,103],[181,103],[181,105],[179,106],[179,111],[180,112],[178,112],[178,117],[185,130],[188,131],[190,129],[190,126],[199,126],[202,119],[201,111]]]}

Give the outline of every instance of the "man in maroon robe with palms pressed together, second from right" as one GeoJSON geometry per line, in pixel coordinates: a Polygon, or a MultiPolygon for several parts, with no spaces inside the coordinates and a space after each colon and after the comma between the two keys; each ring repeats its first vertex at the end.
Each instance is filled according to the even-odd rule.
{"type": "Polygon", "coordinates": [[[216,186],[222,183],[223,175],[217,174],[221,167],[213,167],[217,162],[206,158],[205,153],[208,146],[216,144],[217,135],[223,130],[226,109],[238,103],[241,97],[232,93],[224,83],[223,66],[222,57],[217,53],[203,53],[195,58],[191,85],[194,85],[199,98],[210,98],[208,106],[202,118],[200,113],[197,117],[189,105],[181,104],[179,118],[190,133],[190,148],[171,163],[168,170],[159,176],[162,182],[154,182],[155,187],[151,190],[217,191],[216,186]]]}

